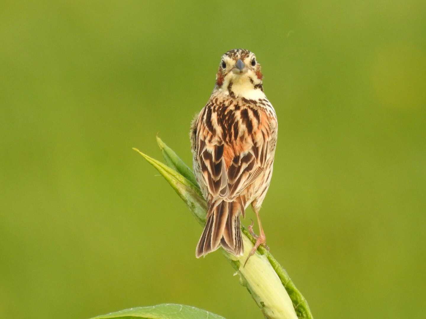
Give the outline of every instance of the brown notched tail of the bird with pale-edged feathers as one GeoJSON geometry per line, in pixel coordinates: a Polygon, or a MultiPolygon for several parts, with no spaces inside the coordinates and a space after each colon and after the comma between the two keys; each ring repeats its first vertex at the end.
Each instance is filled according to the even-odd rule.
{"type": "Polygon", "coordinates": [[[235,256],[242,255],[244,245],[241,237],[240,213],[244,216],[241,198],[236,198],[233,202],[218,199],[211,203],[195,256],[197,258],[205,256],[218,249],[219,245],[235,256]]]}

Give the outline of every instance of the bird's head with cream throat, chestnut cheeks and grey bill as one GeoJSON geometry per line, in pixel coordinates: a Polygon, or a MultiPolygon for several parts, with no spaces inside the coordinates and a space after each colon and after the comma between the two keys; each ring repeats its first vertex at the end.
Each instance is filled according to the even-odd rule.
{"type": "Polygon", "coordinates": [[[223,54],[216,74],[215,89],[235,97],[249,98],[252,95],[261,95],[249,92],[259,90],[263,93],[262,72],[254,53],[244,49],[233,49],[223,54]]]}

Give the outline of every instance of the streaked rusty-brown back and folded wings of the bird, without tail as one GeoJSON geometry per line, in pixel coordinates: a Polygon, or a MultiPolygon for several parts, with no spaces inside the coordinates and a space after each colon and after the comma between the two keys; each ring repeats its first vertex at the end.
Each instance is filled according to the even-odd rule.
{"type": "Polygon", "coordinates": [[[227,125],[219,122],[220,117],[217,125],[209,122],[208,110],[196,121],[194,157],[210,202],[233,201],[265,171],[271,152],[267,116],[258,112],[255,117],[244,110],[234,111],[234,121],[227,125]]]}

